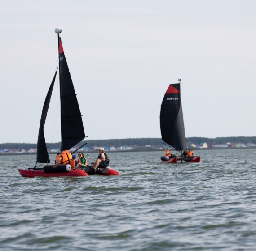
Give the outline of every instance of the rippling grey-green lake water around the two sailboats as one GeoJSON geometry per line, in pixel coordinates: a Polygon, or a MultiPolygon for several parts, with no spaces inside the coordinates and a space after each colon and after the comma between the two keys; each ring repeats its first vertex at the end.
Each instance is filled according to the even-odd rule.
{"type": "Polygon", "coordinates": [[[0,250],[256,250],[256,149],[195,153],[109,153],[119,176],[78,178],[23,178],[35,155],[0,156],[0,250]]]}

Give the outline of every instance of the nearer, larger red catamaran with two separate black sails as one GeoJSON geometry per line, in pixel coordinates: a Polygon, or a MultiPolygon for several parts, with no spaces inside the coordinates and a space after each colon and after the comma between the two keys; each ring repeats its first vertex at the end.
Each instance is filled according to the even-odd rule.
{"type": "MultiPolygon", "coordinates": [[[[64,55],[62,40],[60,33],[61,28],[56,28],[55,33],[58,35],[58,53],[59,53],[59,84],[60,84],[60,105],[61,105],[61,137],[62,137],[62,156],[64,152],[69,152],[74,145],[84,140],[84,125],[79,104],[76,98],[74,85],[71,79],[69,68],[64,55]]],[[[53,86],[56,79],[57,70],[54,74],[53,81],[46,95],[42,115],[40,119],[40,127],[37,140],[36,164],[28,170],[18,169],[23,177],[59,177],[59,176],[87,176],[88,173],[83,169],[74,169],[75,160],[68,159],[68,163],[62,165],[46,165],[38,168],[37,163],[50,163],[49,154],[46,147],[44,137],[44,124],[47,117],[49,103],[51,100],[53,86]]],[[[85,143],[86,144],[86,143],[85,143]]],[[[85,145],[84,144],[84,145],[85,145]]],[[[70,153],[69,153],[70,154],[70,153]]],[[[101,175],[119,175],[115,170],[108,171],[105,168],[97,170],[97,174],[101,175]]]]}

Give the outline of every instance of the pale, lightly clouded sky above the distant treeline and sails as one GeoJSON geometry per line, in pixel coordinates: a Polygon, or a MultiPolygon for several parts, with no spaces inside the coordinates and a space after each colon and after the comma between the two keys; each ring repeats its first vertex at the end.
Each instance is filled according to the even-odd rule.
{"type": "MultiPolygon", "coordinates": [[[[161,138],[181,81],[186,137],[256,136],[255,0],[0,0],[0,143],[36,143],[58,62],[56,27],[88,140],[161,138]]],[[[59,87],[46,142],[61,141],[59,87]]]]}

